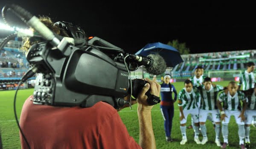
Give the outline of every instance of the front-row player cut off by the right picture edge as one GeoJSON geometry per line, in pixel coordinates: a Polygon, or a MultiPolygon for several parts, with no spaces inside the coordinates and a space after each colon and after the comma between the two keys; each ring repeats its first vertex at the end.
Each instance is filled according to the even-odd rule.
{"type": "Polygon", "coordinates": [[[243,91],[247,96],[247,108],[245,111],[245,147],[250,149],[250,124],[253,116],[256,116],[256,84],[253,89],[243,91]]]}

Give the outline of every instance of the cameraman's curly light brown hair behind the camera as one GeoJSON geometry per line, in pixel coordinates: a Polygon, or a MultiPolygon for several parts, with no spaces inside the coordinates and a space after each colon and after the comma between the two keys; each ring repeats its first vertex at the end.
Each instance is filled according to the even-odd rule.
{"type": "MultiPolygon", "coordinates": [[[[65,37],[69,37],[69,35],[67,34],[67,32],[63,29],[60,29],[58,26],[54,26],[54,23],[52,22],[51,18],[48,16],[39,16],[39,20],[44,23],[49,29],[52,30],[52,32],[55,32],[56,34],[59,34],[61,36],[65,36],[65,37]]],[[[33,32],[34,29],[29,28],[30,30],[32,30],[33,32]]],[[[30,41],[29,37],[24,37],[22,39],[22,46],[20,47],[20,50],[26,54],[29,51],[29,48],[31,47],[32,44],[34,43],[38,43],[38,41],[30,41]]]]}

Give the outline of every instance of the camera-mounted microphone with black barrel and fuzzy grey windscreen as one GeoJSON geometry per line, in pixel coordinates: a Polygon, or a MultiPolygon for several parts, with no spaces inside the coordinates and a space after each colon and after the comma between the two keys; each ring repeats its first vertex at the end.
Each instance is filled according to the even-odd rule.
{"type": "Polygon", "coordinates": [[[129,57],[145,66],[146,72],[150,74],[159,75],[166,71],[166,62],[160,54],[149,54],[147,57],[129,54],[129,57]]]}

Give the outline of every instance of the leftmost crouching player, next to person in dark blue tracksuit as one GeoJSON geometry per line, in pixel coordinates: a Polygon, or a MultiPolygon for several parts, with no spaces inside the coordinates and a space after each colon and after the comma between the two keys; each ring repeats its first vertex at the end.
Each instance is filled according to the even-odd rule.
{"type": "Polygon", "coordinates": [[[197,144],[201,144],[199,140],[199,106],[201,101],[201,96],[198,92],[194,92],[193,84],[191,80],[184,81],[184,88],[180,90],[178,95],[178,106],[180,109],[180,131],[182,135],[181,145],[187,142],[186,138],[186,118],[189,114],[195,123],[195,136],[194,141],[197,144]]]}

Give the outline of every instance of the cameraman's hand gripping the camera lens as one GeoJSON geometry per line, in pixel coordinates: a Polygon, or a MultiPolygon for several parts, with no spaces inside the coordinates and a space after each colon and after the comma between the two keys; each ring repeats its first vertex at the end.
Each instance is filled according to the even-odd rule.
{"type": "Polygon", "coordinates": [[[145,84],[142,91],[137,96],[138,110],[151,110],[153,108],[153,106],[148,105],[148,96],[145,95],[149,88],[152,95],[157,97],[160,95],[161,86],[156,81],[150,80],[148,78],[145,78],[145,81],[148,81],[148,83],[145,84]]]}

